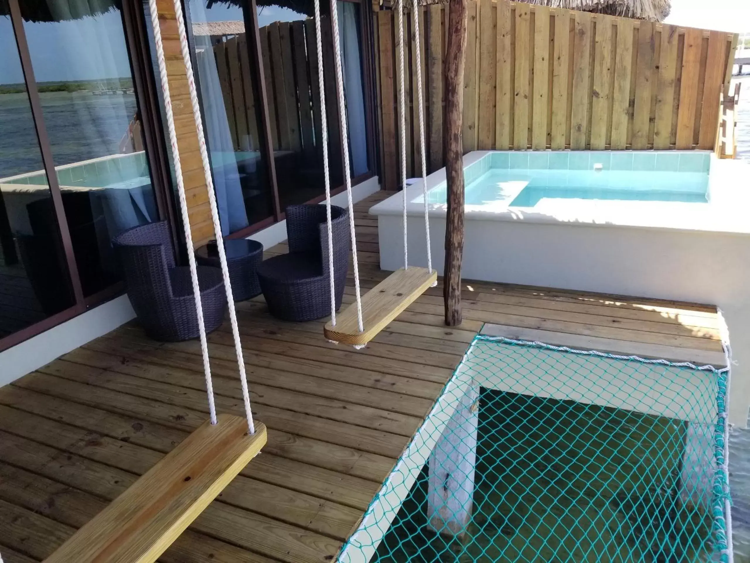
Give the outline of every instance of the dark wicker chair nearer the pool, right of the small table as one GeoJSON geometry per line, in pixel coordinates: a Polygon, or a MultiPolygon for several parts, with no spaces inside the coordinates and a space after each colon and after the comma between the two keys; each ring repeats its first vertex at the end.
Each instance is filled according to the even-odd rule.
{"type": "MultiPolygon", "coordinates": [[[[331,206],[336,309],[341,307],[349,269],[349,214],[331,206]]],[[[326,206],[287,207],[289,254],[258,268],[269,311],[284,321],[313,321],[331,314],[326,206]]]]}

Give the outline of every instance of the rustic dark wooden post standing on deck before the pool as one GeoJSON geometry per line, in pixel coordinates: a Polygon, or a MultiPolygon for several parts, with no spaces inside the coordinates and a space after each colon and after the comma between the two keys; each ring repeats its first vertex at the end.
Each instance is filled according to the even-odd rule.
{"type": "Polygon", "coordinates": [[[461,323],[461,258],[463,257],[463,64],[466,52],[466,0],[449,0],[446,53],[446,127],[443,132],[448,185],[446,264],[443,298],[446,324],[461,323]]]}

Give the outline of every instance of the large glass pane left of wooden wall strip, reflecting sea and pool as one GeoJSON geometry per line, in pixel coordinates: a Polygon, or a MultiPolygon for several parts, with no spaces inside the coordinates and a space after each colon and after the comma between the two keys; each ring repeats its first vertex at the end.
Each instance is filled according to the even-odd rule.
{"type": "MultiPolygon", "coordinates": [[[[121,13],[40,0],[24,22],[83,294],[121,279],[113,236],[158,219],[121,13]]],[[[51,209],[45,210],[49,215],[51,209]]]]}

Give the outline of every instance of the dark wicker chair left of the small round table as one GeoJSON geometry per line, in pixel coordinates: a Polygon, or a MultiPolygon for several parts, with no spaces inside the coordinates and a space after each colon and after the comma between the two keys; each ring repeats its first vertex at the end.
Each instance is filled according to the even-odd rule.
{"type": "MultiPolygon", "coordinates": [[[[176,342],[198,337],[190,268],[175,266],[166,222],[133,227],[115,236],[133,304],[145,333],[154,340],[176,342]]],[[[221,270],[198,267],[198,284],[206,333],[217,329],[226,311],[221,270]]]]}

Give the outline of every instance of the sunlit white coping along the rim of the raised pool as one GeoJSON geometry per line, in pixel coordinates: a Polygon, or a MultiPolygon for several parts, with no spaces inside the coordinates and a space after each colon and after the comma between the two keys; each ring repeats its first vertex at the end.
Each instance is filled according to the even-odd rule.
{"type": "MultiPolygon", "coordinates": [[[[493,151],[473,151],[463,157],[463,167],[481,160],[493,151]]],[[[750,165],[743,161],[721,160],[711,155],[709,201],[621,201],[543,199],[533,207],[511,207],[513,197],[492,206],[466,205],[467,221],[523,221],[527,223],[565,222],[604,227],[638,227],[740,233],[750,235],[750,165]]],[[[428,191],[446,182],[446,169],[431,173],[428,191]]],[[[407,215],[425,213],[422,179],[407,186],[407,215]]],[[[401,215],[401,194],[389,197],[370,209],[371,215],[401,215]]],[[[445,218],[445,203],[430,203],[431,218],[445,218]]]]}

